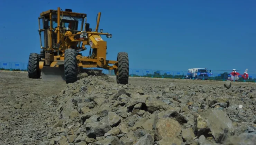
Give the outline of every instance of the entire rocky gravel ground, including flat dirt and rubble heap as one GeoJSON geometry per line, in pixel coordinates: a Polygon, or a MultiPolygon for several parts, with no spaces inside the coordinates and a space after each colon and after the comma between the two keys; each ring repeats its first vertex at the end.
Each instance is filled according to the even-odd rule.
{"type": "Polygon", "coordinates": [[[254,145],[256,84],[0,72],[0,145],[254,145]]]}

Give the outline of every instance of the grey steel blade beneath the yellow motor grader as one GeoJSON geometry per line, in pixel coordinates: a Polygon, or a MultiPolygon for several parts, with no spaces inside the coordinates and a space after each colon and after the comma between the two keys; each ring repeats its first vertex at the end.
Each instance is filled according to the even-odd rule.
{"type": "Polygon", "coordinates": [[[46,67],[42,69],[43,81],[65,81],[64,67],[46,67]]]}

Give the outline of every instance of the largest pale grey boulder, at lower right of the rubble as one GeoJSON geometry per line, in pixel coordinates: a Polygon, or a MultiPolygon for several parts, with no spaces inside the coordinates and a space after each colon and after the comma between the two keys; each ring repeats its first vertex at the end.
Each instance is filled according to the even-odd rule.
{"type": "Polygon", "coordinates": [[[229,136],[235,134],[232,121],[222,110],[211,110],[202,116],[195,116],[195,130],[197,135],[211,134],[216,143],[223,143],[229,136]]]}

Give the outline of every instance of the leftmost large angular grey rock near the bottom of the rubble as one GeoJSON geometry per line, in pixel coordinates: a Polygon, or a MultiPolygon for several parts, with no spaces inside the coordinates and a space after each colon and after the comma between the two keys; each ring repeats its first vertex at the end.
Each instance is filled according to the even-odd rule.
{"type": "Polygon", "coordinates": [[[86,135],[89,138],[104,136],[105,133],[111,130],[111,127],[104,122],[94,122],[86,124],[86,135]]]}

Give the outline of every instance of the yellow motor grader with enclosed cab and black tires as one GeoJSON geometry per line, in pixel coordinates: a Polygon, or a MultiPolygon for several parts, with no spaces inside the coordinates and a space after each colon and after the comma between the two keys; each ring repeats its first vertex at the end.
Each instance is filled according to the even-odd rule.
{"type": "Polygon", "coordinates": [[[100,29],[101,12],[97,15],[96,28],[92,30],[86,22],[85,13],[71,9],[42,12],[38,18],[41,51],[31,53],[28,60],[28,77],[44,81],[77,81],[77,74],[89,68],[114,70],[118,84],[128,84],[129,60],[126,52],[119,52],[117,60],[106,60],[107,42],[101,36],[112,38],[100,29]],[[90,47],[89,55],[81,51],[90,47]]]}

